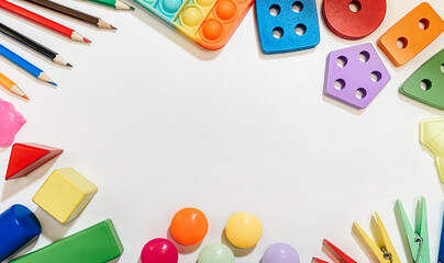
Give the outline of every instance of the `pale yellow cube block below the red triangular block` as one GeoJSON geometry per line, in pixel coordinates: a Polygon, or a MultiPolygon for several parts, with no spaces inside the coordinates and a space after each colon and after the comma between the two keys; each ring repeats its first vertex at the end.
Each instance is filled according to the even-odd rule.
{"type": "Polygon", "coordinates": [[[73,168],[55,170],[32,201],[62,224],[75,219],[98,187],[73,168]]]}

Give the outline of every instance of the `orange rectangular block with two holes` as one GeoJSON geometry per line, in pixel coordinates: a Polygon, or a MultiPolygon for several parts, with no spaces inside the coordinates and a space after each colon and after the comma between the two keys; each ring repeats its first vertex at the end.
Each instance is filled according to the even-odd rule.
{"type": "Polygon", "coordinates": [[[417,56],[444,31],[444,21],[423,2],[391,26],[379,41],[395,66],[399,67],[417,56]]]}

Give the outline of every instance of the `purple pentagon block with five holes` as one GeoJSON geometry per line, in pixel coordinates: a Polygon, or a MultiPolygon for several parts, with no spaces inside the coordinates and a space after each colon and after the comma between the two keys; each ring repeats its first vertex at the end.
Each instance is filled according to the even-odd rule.
{"type": "Polygon", "coordinates": [[[374,46],[366,43],[329,54],[324,93],[351,106],[364,108],[390,79],[374,46]]]}

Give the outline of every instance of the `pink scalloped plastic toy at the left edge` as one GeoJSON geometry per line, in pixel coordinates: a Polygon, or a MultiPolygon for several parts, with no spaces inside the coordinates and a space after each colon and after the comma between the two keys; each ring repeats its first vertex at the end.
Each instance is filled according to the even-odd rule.
{"type": "Polygon", "coordinates": [[[0,147],[10,147],[25,123],[26,119],[10,102],[0,99],[0,147]]]}

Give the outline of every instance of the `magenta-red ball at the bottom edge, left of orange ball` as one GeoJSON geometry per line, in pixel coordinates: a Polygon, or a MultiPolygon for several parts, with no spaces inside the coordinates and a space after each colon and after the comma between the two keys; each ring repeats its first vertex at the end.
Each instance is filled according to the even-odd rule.
{"type": "Polygon", "coordinates": [[[142,249],[142,263],[177,263],[179,253],[168,239],[153,239],[142,249]]]}

